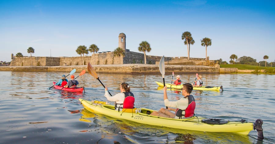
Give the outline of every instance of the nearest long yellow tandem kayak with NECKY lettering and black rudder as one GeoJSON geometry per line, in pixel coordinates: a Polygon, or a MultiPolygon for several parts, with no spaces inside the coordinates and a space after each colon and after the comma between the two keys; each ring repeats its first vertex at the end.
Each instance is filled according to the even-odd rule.
{"type": "MultiPolygon", "coordinates": [[[[246,122],[245,120],[242,122],[230,122],[221,119],[209,119],[197,116],[189,119],[163,118],[147,114],[154,111],[147,108],[123,109],[122,111],[117,111],[114,109],[114,105],[108,105],[103,101],[87,101],[81,98],[79,98],[79,101],[83,107],[90,112],[147,125],[203,132],[233,132],[244,135],[248,135],[251,130],[255,129],[255,124],[252,122],[246,122]]],[[[260,129],[262,129],[261,126],[262,125],[260,125],[260,129]]]]}

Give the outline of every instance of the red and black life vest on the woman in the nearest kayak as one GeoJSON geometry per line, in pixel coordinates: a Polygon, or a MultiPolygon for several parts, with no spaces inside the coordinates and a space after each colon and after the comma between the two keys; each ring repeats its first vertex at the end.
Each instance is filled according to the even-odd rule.
{"type": "Polygon", "coordinates": [[[134,102],[135,102],[134,94],[132,92],[123,92],[123,93],[125,95],[123,104],[115,103],[115,109],[117,107],[121,108],[120,107],[121,105],[123,105],[123,108],[131,108],[131,109],[134,108],[134,102]]]}

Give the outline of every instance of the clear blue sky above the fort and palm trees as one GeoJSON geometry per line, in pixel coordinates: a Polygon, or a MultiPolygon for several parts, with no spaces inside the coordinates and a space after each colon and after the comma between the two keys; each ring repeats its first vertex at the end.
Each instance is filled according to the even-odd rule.
{"type": "Polygon", "coordinates": [[[259,62],[267,55],[273,62],[274,7],[272,0],[0,0],[0,61],[11,61],[12,53],[30,56],[29,47],[35,57],[78,57],[77,47],[91,44],[114,51],[119,33],[130,51],[147,41],[146,55],[187,57],[182,33],[189,31],[190,57],[206,57],[207,37],[210,60],[229,62],[235,54],[259,62]]]}

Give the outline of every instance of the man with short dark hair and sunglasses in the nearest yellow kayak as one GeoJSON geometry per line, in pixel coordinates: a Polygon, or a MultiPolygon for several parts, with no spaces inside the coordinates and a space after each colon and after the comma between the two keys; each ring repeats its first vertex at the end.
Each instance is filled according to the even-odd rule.
{"type": "Polygon", "coordinates": [[[193,95],[190,95],[192,91],[192,84],[183,84],[182,95],[184,96],[184,98],[181,98],[178,101],[169,101],[167,98],[167,87],[164,86],[163,98],[164,104],[167,107],[167,109],[161,108],[159,111],[153,111],[150,115],[166,118],[192,118],[194,116],[194,111],[196,108],[195,98],[193,97],[193,95]],[[175,113],[171,111],[175,111],[175,113]]]}

